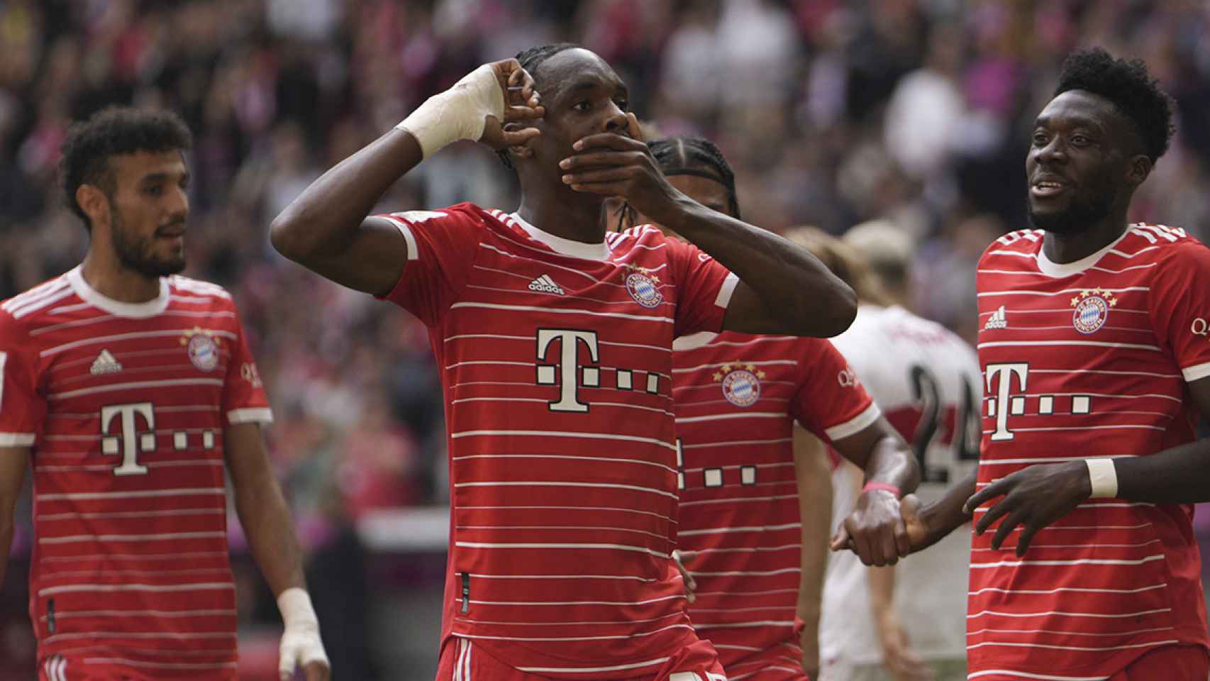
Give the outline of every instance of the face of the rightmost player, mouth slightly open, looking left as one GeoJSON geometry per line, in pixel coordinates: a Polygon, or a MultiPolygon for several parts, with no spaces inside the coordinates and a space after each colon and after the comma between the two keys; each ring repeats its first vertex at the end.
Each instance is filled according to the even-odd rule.
{"type": "Polygon", "coordinates": [[[1107,99],[1073,90],[1047,104],[1025,157],[1030,221],[1074,233],[1106,218],[1125,191],[1123,135],[1134,134],[1107,99]]]}

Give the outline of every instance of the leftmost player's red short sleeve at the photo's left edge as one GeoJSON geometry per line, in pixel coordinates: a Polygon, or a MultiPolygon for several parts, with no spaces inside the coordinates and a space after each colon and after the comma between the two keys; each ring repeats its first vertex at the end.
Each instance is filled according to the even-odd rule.
{"type": "Polygon", "coordinates": [[[46,417],[39,358],[25,331],[0,312],[0,446],[31,446],[46,417]]]}

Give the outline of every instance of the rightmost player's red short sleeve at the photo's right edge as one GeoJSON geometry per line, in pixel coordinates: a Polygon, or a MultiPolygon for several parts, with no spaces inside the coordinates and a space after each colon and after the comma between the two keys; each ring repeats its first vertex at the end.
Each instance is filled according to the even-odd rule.
{"type": "Polygon", "coordinates": [[[1151,317],[1186,382],[1210,376],[1210,249],[1194,239],[1172,247],[1151,282],[1151,317]]]}

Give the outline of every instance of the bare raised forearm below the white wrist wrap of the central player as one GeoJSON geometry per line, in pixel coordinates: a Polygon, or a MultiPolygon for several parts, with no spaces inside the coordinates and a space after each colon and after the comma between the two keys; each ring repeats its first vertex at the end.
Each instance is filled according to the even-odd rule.
{"type": "Polygon", "coordinates": [[[270,229],[273,248],[302,262],[340,253],[378,201],[424,157],[410,132],[392,128],[311,183],[270,229]]]}

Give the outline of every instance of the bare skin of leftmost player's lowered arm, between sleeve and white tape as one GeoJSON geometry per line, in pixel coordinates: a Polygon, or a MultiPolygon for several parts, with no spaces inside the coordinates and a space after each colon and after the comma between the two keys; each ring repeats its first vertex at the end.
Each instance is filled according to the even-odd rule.
{"type": "Polygon", "coordinates": [[[286,497],[269,466],[260,425],[227,426],[224,439],[236,513],[265,582],[273,595],[292,587],[305,589],[302,555],[286,497]]]}

